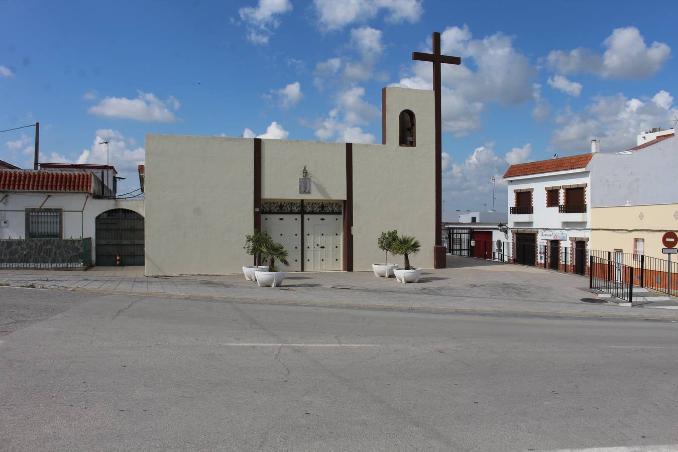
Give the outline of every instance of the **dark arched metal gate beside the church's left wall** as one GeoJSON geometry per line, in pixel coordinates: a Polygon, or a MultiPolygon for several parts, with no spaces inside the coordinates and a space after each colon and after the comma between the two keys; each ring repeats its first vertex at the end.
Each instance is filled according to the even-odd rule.
{"type": "Polygon", "coordinates": [[[129,209],[96,218],[96,265],[144,265],[144,217],[129,209]]]}

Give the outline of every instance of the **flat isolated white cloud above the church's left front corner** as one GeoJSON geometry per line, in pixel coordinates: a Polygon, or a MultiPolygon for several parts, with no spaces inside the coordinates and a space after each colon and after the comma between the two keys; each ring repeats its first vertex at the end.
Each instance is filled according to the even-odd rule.
{"type": "Polygon", "coordinates": [[[138,98],[136,99],[107,97],[89,107],[87,111],[95,115],[117,119],[136,119],[136,121],[144,122],[176,123],[180,121],[170,110],[170,108],[173,110],[180,108],[176,98],[169,96],[167,101],[163,102],[153,93],[137,92],[138,98]]]}

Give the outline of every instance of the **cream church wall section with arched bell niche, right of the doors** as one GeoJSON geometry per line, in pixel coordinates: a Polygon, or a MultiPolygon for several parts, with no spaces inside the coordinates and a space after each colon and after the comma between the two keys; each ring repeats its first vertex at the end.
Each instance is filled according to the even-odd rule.
{"type": "MultiPolygon", "coordinates": [[[[435,245],[435,117],[433,91],[386,88],[386,144],[353,145],[353,268],[382,262],[382,231],[414,235],[414,266],[433,268],[435,245]],[[399,146],[402,110],[416,117],[416,146],[399,146]]],[[[401,257],[393,262],[402,263],[401,257]]]]}

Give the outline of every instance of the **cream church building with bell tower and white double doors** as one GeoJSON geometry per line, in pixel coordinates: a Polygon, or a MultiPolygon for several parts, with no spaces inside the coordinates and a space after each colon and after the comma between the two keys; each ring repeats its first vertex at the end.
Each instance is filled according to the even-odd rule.
{"type": "Polygon", "coordinates": [[[393,229],[433,268],[435,126],[433,91],[386,87],[382,144],[146,135],[146,276],[239,273],[254,230],[285,245],[284,271],[371,270],[393,229]]]}

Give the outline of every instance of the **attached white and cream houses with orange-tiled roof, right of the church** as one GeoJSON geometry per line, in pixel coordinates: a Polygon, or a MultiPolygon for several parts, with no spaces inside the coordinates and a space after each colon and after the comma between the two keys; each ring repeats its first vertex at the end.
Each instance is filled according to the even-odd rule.
{"type": "Polygon", "coordinates": [[[661,235],[678,228],[677,170],[674,131],[659,127],[614,154],[600,152],[592,140],[588,154],[511,165],[504,174],[509,228],[515,244],[532,245],[527,255],[516,247],[515,258],[557,268],[565,247],[575,271],[583,272],[586,249],[639,255],[649,254],[652,243],[652,254],[662,257],[661,235]]]}

